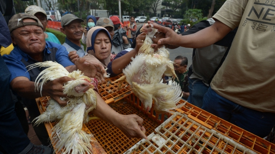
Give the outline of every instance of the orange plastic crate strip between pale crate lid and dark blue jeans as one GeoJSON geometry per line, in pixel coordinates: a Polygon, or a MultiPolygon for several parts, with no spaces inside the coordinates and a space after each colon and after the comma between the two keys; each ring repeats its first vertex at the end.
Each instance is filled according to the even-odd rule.
{"type": "MultiPolygon", "coordinates": [[[[245,131],[230,122],[219,118],[205,110],[192,104],[186,103],[185,106],[176,111],[188,115],[191,119],[211,127],[217,132],[234,139],[239,144],[245,145],[258,153],[275,153],[275,144],[272,144],[248,131],[245,131]]],[[[253,126],[252,126],[253,127],[253,126]]]]}

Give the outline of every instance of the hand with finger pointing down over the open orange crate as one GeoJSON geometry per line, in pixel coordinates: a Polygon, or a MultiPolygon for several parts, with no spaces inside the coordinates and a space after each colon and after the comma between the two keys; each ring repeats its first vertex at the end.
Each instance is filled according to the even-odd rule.
{"type": "Polygon", "coordinates": [[[136,114],[119,114],[119,117],[113,124],[129,138],[136,137],[148,139],[145,135],[146,130],[143,126],[143,119],[136,114]]]}

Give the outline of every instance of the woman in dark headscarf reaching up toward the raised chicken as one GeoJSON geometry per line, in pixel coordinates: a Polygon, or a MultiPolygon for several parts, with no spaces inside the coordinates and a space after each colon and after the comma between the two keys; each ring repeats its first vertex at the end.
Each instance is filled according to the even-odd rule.
{"type": "Polygon", "coordinates": [[[111,54],[112,39],[107,29],[96,26],[90,29],[87,34],[88,54],[84,58],[88,61],[98,61],[104,68],[107,68],[106,72],[110,76],[116,76],[131,62],[131,57],[135,57],[139,52],[145,37],[145,35],[141,35],[137,38],[134,49],[123,50],[115,56],[115,54],[111,54]]]}

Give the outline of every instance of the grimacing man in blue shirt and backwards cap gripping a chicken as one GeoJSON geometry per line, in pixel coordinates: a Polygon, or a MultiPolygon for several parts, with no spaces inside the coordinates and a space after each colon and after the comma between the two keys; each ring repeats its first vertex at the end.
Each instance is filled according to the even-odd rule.
{"type": "MultiPolygon", "coordinates": [[[[26,67],[46,60],[57,61],[70,72],[76,70],[76,66],[69,60],[68,51],[64,46],[45,41],[43,25],[35,16],[28,14],[14,15],[9,21],[9,30],[15,48],[10,55],[4,55],[3,58],[11,72],[11,87],[17,95],[23,97],[22,100],[29,110],[32,121],[40,114],[34,100],[34,98],[40,97],[40,94],[35,92],[34,81],[41,70],[35,68],[28,71],[26,67]]],[[[78,64],[77,69],[79,70],[83,70],[84,67],[87,67],[83,66],[84,64],[82,65],[82,63],[78,64]]],[[[98,65],[98,67],[104,69],[100,65],[98,65]]],[[[96,70],[97,68],[93,69],[96,70]]],[[[104,80],[102,73],[98,73],[97,75],[98,77],[101,76],[99,80],[104,80]]],[[[94,77],[95,75],[91,75],[91,77],[92,76],[94,77]]],[[[66,80],[63,79],[60,82],[66,82],[66,80]]],[[[54,84],[61,84],[60,82],[53,82],[51,86],[54,86],[54,84]]],[[[59,92],[50,88],[50,86],[48,86],[48,89],[43,88],[45,89],[44,94],[42,93],[43,96],[50,96],[59,103],[66,104],[66,102],[60,101],[60,96],[55,95],[59,92]]],[[[61,89],[58,90],[61,91],[61,89]]],[[[39,125],[38,127],[34,127],[34,129],[42,144],[49,145],[47,142],[47,133],[44,134],[45,132],[43,132],[45,131],[44,126],[39,125]]]]}

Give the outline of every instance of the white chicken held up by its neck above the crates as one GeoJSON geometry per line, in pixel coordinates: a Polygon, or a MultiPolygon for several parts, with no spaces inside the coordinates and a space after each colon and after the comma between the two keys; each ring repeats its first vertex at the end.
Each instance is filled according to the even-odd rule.
{"type": "Polygon", "coordinates": [[[132,58],[132,62],[123,70],[125,76],[117,81],[126,79],[147,111],[151,109],[153,99],[156,112],[181,107],[176,106],[182,96],[180,85],[175,81],[169,81],[169,84],[162,83],[163,74],[176,78],[173,62],[169,59],[169,51],[163,46],[154,52],[151,44],[157,29],[153,28],[152,24],[145,24],[141,32],[146,33],[146,39],[139,54],[132,58]]]}

